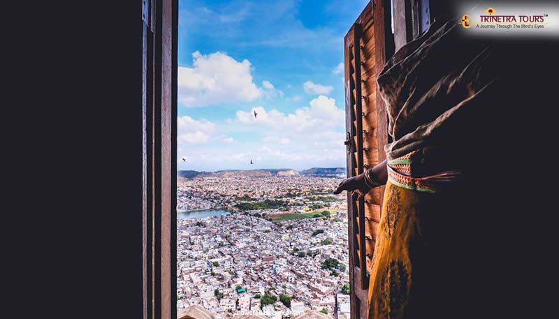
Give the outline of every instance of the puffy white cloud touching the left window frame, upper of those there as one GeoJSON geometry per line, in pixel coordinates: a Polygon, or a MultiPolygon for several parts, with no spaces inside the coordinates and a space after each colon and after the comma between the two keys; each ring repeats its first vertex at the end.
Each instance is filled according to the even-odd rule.
{"type": "Polygon", "coordinates": [[[223,52],[205,55],[198,51],[192,57],[193,68],[178,68],[178,100],[183,105],[201,107],[255,101],[263,95],[252,81],[251,64],[247,59],[238,62],[223,52]]]}

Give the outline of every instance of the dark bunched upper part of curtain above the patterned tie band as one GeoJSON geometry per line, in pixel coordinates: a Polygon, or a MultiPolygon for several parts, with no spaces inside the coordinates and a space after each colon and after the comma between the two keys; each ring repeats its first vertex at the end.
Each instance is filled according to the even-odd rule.
{"type": "Polygon", "coordinates": [[[464,145],[465,130],[490,107],[484,91],[499,77],[499,59],[490,45],[465,40],[459,28],[456,20],[434,22],[377,77],[394,141],[385,147],[389,160],[423,147],[464,145]]]}

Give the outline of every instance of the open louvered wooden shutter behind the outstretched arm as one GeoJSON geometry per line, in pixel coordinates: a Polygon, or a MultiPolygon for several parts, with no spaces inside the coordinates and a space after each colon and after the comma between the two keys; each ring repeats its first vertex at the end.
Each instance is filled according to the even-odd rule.
{"type": "MultiPolygon", "coordinates": [[[[368,3],[344,38],[347,176],[386,158],[386,107],[376,78],[393,52],[390,1],[368,3]]],[[[366,318],[369,272],[375,253],[384,187],[357,202],[348,193],[351,318],[366,318]]]]}

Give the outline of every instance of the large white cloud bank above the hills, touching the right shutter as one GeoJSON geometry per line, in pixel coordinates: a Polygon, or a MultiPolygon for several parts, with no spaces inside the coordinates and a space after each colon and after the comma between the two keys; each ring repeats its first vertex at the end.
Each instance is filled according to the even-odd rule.
{"type": "MultiPolygon", "coordinates": [[[[228,156],[231,163],[217,165],[303,169],[338,167],[345,163],[344,111],[336,107],[333,98],[318,96],[308,106],[293,112],[262,106],[239,110],[227,123],[231,130],[251,133],[252,141],[235,144],[232,151],[238,156],[228,156]],[[254,111],[258,113],[256,118],[254,111]],[[250,159],[254,165],[245,165],[250,159]]],[[[215,161],[225,161],[223,156],[218,157],[222,159],[215,161]]]]}

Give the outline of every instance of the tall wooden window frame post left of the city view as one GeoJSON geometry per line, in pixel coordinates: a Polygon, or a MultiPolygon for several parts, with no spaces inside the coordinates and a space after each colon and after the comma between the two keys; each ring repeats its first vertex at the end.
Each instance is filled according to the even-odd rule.
{"type": "MultiPolygon", "coordinates": [[[[139,15],[138,15],[139,18],[139,15]]],[[[177,318],[177,0],[144,0],[143,319],[177,318]]]]}

